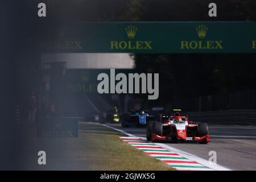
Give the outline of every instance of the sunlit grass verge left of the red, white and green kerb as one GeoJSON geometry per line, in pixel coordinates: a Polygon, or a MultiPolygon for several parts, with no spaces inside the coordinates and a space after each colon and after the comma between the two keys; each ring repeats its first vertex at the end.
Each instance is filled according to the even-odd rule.
{"type": "Polygon", "coordinates": [[[101,125],[80,123],[80,138],[85,138],[83,156],[90,170],[173,170],[119,137],[122,133],[101,125]]]}

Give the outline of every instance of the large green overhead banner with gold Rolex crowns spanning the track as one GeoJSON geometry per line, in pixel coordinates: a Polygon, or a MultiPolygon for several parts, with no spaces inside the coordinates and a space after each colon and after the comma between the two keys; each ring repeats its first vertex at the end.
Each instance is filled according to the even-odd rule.
{"type": "Polygon", "coordinates": [[[42,53],[256,52],[256,22],[63,23],[40,30],[42,53]]]}

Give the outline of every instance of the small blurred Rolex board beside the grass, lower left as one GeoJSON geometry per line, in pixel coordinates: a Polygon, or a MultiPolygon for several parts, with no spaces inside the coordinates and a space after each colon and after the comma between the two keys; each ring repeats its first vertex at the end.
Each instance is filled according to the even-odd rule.
{"type": "Polygon", "coordinates": [[[38,137],[79,137],[79,118],[41,118],[38,137]]]}

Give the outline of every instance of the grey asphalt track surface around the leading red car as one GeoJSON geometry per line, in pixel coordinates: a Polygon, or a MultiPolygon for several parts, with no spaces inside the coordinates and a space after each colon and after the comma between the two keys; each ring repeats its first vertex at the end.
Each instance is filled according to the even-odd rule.
{"type": "MultiPolygon", "coordinates": [[[[108,123],[115,129],[137,137],[146,137],[146,128],[123,128],[119,123],[108,123]]],[[[232,170],[256,170],[256,126],[209,125],[210,143],[164,143],[178,150],[209,159],[209,151],[216,151],[217,164],[232,170]]]]}

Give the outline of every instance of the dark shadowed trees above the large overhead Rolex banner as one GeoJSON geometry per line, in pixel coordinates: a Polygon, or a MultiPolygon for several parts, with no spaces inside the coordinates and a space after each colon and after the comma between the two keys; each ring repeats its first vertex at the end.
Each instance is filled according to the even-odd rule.
{"type": "MultiPolygon", "coordinates": [[[[30,2],[30,1],[29,1],[30,2]]],[[[51,19],[109,21],[256,20],[255,0],[216,0],[217,17],[208,16],[210,0],[55,0],[46,1],[51,19]]],[[[27,6],[31,7],[31,3],[27,6]]],[[[31,7],[32,10],[32,7],[31,7]]]]}

